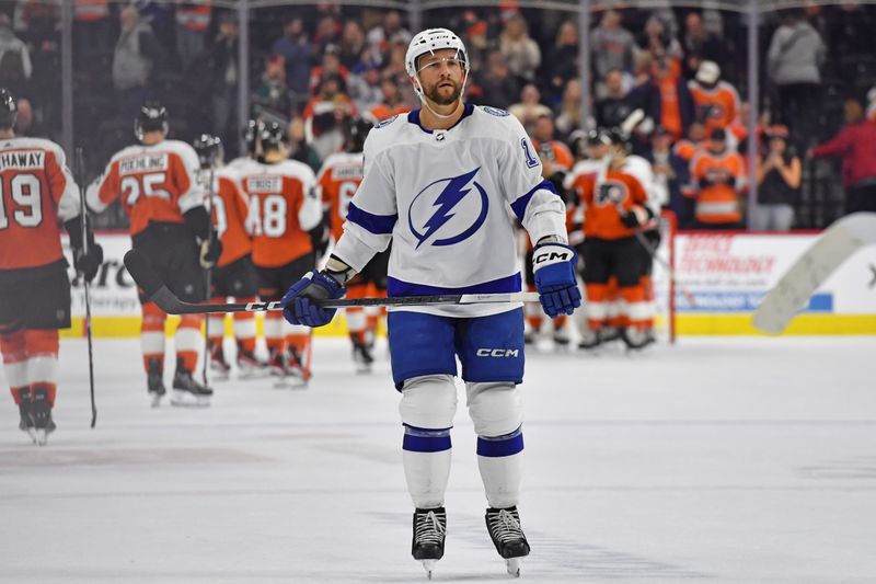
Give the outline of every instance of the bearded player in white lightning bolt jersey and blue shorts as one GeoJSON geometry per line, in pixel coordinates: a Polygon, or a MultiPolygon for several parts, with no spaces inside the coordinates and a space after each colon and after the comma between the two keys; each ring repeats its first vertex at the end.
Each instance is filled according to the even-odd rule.
{"type": "MultiPolygon", "coordinates": [[[[469,60],[445,28],[417,34],[405,66],[422,110],[378,124],[365,144],[365,178],[326,268],[283,299],[287,320],[321,327],[335,310],[312,300],[344,296],[345,283],[392,241],[389,295],[519,291],[514,211],[535,245],[535,285],[549,317],[580,306],[565,206],[541,176],[532,142],[502,110],[462,101],[469,60]]],[[[445,490],[453,377],[462,363],[487,503],[486,525],[508,570],[529,553],[520,526],[523,313],[519,305],[392,310],[392,374],[401,391],[407,489],[416,507],[412,553],[428,574],[443,554],[445,490]]]]}

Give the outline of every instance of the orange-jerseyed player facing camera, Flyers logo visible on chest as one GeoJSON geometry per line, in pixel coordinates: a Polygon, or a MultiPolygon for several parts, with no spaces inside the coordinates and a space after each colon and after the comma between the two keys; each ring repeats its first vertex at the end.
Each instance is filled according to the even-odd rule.
{"type": "Polygon", "coordinates": [[[623,172],[623,148],[606,131],[597,131],[591,141],[606,147],[602,168],[575,173],[570,186],[578,193],[584,208],[584,283],[587,293],[585,313],[587,329],[581,346],[593,347],[601,342],[601,331],[609,318],[609,283],[616,278],[623,299],[621,337],[630,348],[641,348],[652,339],[652,305],[642,285],[641,243],[635,230],[645,225],[653,213],[647,206],[647,193],[639,181],[623,172]]]}

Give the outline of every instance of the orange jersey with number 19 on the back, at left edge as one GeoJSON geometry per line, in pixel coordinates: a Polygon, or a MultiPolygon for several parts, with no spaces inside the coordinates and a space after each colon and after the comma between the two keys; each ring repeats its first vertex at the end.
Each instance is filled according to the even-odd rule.
{"type": "Polygon", "coordinates": [[[57,144],[0,140],[0,270],[60,260],[58,220],[78,216],[79,206],[79,187],[57,144]]]}

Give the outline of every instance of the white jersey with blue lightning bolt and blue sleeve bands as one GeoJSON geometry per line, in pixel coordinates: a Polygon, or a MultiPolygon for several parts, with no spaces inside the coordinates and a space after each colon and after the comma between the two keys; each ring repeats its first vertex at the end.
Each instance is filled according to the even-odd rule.
{"type": "MultiPolygon", "coordinates": [[[[541,171],[503,110],[466,104],[443,130],[423,128],[418,110],[389,118],[368,134],[365,178],[334,253],[361,271],[392,241],[390,296],[519,291],[512,217],[533,242],[566,238],[565,206],[541,171]]],[[[517,306],[415,310],[470,317],[517,306]]]]}

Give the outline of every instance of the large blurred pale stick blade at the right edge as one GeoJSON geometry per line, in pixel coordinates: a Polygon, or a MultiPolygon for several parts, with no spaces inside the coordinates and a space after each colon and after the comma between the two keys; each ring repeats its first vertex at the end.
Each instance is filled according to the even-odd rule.
{"type": "Polygon", "coordinates": [[[830,226],[794,262],[763,298],[752,324],[771,334],[785,330],[809,297],[845,260],[861,248],[876,243],[876,213],[853,213],[830,226]]]}

